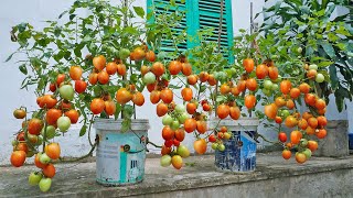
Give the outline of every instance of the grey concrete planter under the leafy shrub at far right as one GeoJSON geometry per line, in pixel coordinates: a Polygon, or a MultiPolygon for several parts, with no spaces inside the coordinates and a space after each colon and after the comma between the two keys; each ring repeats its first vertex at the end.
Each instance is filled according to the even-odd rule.
{"type": "Polygon", "coordinates": [[[330,120],[327,125],[328,135],[318,140],[319,150],[314,152],[317,156],[342,157],[347,156],[349,132],[346,120],[330,120]]]}

